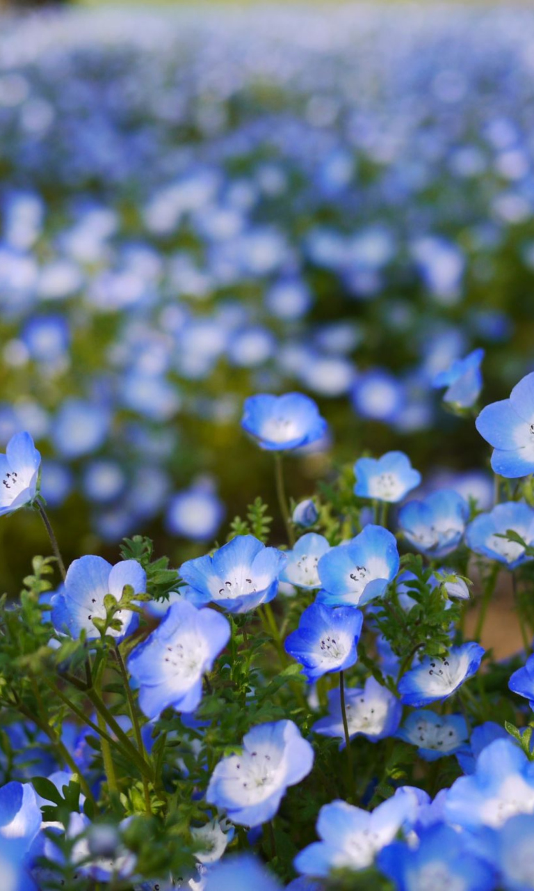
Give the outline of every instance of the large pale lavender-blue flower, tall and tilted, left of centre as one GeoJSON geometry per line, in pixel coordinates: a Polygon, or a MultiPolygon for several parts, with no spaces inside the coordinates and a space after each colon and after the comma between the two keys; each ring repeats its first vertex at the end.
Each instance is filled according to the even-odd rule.
{"type": "Polygon", "coordinates": [[[193,712],[202,697],[202,675],[230,640],[228,619],[214,609],[182,601],[169,607],[156,631],[128,659],[148,718],[164,708],[193,712]]]}

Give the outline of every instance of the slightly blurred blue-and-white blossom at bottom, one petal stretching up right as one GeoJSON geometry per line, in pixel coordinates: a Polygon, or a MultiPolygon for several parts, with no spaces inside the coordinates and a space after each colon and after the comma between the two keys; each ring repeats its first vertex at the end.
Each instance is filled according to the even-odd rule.
{"type": "Polygon", "coordinates": [[[365,870],[376,854],[397,835],[413,804],[408,798],[388,798],[372,813],[344,801],[323,805],[319,812],[319,842],[295,857],[295,870],[327,878],[331,870],[365,870]]]}

